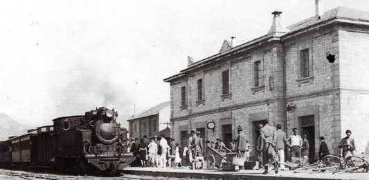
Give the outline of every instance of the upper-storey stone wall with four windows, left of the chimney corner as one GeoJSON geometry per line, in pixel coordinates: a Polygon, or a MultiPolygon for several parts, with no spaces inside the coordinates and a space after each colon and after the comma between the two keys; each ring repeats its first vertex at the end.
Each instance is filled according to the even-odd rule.
{"type": "Polygon", "coordinates": [[[192,72],[188,81],[183,79],[179,83],[172,83],[172,114],[173,119],[190,113],[216,110],[217,108],[234,106],[242,103],[257,102],[283,94],[283,66],[282,48],[263,46],[252,52],[244,52],[241,58],[224,59],[207,69],[192,72]],[[278,51],[278,54],[277,54],[278,51]],[[276,60],[278,59],[278,60],[276,60]],[[254,63],[260,61],[262,66],[262,84],[254,87],[254,63]],[[222,71],[230,70],[230,97],[222,98],[222,71]],[[198,103],[197,80],[203,79],[204,101],[198,103]],[[187,88],[188,109],[181,106],[181,86],[187,88]],[[276,93],[278,92],[278,93],[276,93]]]}

